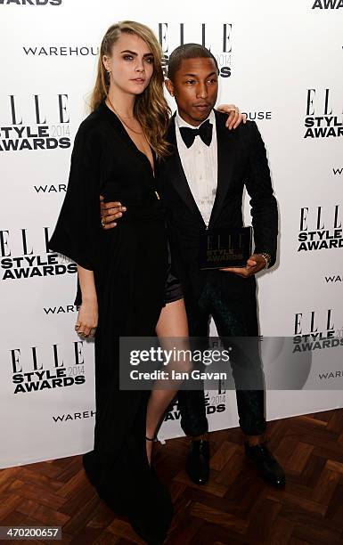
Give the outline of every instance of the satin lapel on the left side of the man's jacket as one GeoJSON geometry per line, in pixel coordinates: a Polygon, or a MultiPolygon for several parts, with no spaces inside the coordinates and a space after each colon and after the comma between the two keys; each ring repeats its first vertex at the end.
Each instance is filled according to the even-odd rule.
{"type": "Polygon", "coordinates": [[[170,177],[170,182],[173,183],[176,191],[184,200],[184,203],[190,208],[192,214],[197,216],[200,223],[205,226],[205,222],[202,219],[200,210],[192,196],[192,191],[190,190],[190,186],[188,185],[187,179],[184,175],[184,168],[177,150],[175,116],[176,114],[174,114],[173,118],[170,119],[167,133],[167,141],[175,147],[173,155],[167,159],[168,175],[170,177]]]}

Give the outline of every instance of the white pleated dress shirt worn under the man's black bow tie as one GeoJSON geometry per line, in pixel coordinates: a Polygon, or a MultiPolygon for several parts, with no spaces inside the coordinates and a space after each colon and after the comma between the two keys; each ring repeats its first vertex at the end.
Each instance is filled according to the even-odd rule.
{"type": "MultiPolygon", "coordinates": [[[[217,144],[216,144],[216,116],[212,110],[208,116],[209,122],[213,125],[212,140],[209,146],[202,142],[199,134],[195,136],[190,148],[184,143],[180,134],[180,127],[187,126],[192,129],[199,126],[189,125],[176,112],[176,143],[177,150],[184,168],[184,175],[187,179],[192,196],[200,209],[200,214],[208,225],[211,216],[213,203],[216,198],[216,183],[218,177],[217,144]]],[[[205,119],[207,121],[207,119],[205,119]]],[[[205,123],[203,121],[203,123],[205,123]]],[[[200,124],[202,125],[202,123],[200,124]]]]}

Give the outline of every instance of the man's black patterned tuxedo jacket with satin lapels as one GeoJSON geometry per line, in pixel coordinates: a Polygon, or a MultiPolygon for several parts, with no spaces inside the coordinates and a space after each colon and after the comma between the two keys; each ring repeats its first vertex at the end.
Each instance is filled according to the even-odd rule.
{"type": "MultiPolygon", "coordinates": [[[[255,252],[270,254],[272,265],[276,258],[278,212],[265,144],[255,122],[248,121],[246,125],[241,124],[229,131],[225,127],[226,114],[215,110],[215,115],[218,180],[208,228],[242,226],[245,185],[250,197],[255,252]]],[[[176,273],[187,289],[195,285],[200,288],[207,273],[200,271],[198,266],[200,232],[206,229],[206,225],[192,197],[177,151],[175,116],[170,121],[167,140],[174,147],[174,152],[163,162],[160,179],[176,273]]],[[[225,274],[228,281],[237,276],[219,271],[215,273],[221,277],[225,274]]],[[[253,277],[251,280],[255,286],[253,277]]]]}

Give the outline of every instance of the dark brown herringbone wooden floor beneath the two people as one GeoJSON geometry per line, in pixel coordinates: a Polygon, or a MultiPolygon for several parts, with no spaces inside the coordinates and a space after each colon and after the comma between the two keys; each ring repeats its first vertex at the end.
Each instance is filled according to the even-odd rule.
{"type": "MultiPolygon", "coordinates": [[[[176,506],[167,545],[343,544],[343,410],[270,422],[268,432],[287,474],[282,491],[245,459],[238,428],[210,435],[206,486],[184,473],[186,439],[156,446],[155,465],[176,506]]],[[[98,499],[80,456],[1,470],[0,525],[61,525],[57,543],[143,543],[98,499]]]]}

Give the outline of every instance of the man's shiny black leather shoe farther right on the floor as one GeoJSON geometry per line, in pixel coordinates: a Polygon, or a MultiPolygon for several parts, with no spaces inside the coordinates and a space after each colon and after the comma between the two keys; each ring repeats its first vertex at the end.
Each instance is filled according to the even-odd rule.
{"type": "Polygon", "coordinates": [[[246,456],[256,464],[267,483],[273,484],[276,488],[282,488],[286,484],[286,477],[281,465],[268,451],[265,443],[250,446],[246,442],[244,447],[246,456]]]}

